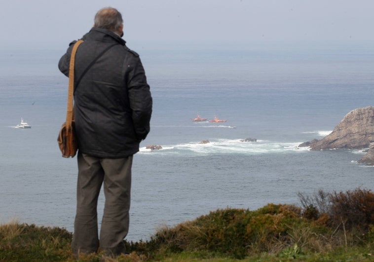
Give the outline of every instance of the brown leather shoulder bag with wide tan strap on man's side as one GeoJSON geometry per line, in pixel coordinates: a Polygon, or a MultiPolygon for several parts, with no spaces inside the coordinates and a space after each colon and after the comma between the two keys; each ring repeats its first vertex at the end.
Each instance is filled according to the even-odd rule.
{"type": "Polygon", "coordinates": [[[60,133],[57,137],[58,146],[63,157],[74,157],[76,151],[78,150],[78,140],[75,133],[75,119],[73,110],[74,64],[76,49],[82,42],[83,40],[78,40],[74,44],[72,56],[70,58],[68,110],[66,112],[66,122],[62,124],[60,133]]]}

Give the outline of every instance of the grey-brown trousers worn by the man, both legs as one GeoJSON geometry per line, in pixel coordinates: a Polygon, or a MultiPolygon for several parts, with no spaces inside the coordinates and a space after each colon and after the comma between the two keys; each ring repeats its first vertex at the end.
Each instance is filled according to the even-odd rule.
{"type": "Polygon", "coordinates": [[[76,215],[72,241],[75,257],[79,253],[97,252],[99,247],[108,255],[125,252],[122,240],[129,228],[132,159],[132,155],[125,158],[98,158],[78,151],[76,215]],[[99,241],[97,202],[102,184],[105,206],[99,241]]]}

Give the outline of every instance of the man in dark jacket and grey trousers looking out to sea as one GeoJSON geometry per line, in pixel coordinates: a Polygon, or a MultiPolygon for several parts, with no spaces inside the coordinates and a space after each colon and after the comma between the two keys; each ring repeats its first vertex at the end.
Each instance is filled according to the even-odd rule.
{"type": "MultiPolygon", "coordinates": [[[[132,159],[150,131],[152,98],[139,55],[122,36],[121,14],[103,8],[75,56],[78,181],[72,249],[76,257],[98,248],[113,256],[125,252],[132,159]],[[105,207],[99,237],[97,202],[102,184],[105,207]]],[[[67,76],[74,43],[58,64],[67,76]]]]}

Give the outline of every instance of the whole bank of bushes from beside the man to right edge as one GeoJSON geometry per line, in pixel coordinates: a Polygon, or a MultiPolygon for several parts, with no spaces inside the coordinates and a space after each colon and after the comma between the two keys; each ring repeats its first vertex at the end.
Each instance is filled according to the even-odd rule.
{"type": "Polygon", "coordinates": [[[299,255],[303,250],[330,251],[362,242],[365,233],[374,239],[370,190],[319,190],[314,196],[299,197],[301,207],[270,203],[255,211],[226,208],[210,212],[163,228],[156,234],[156,242],[170,252],[205,250],[242,259],[262,252],[299,255]]]}

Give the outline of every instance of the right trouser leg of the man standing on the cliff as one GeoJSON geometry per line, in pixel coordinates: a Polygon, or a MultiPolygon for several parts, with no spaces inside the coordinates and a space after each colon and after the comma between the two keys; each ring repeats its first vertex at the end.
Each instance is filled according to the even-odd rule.
{"type": "Polygon", "coordinates": [[[100,249],[110,255],[125,252],[123,239],[129,230],[131,166],[133,156],[102,159],[105,207],[100,230],[100,249]]]}

